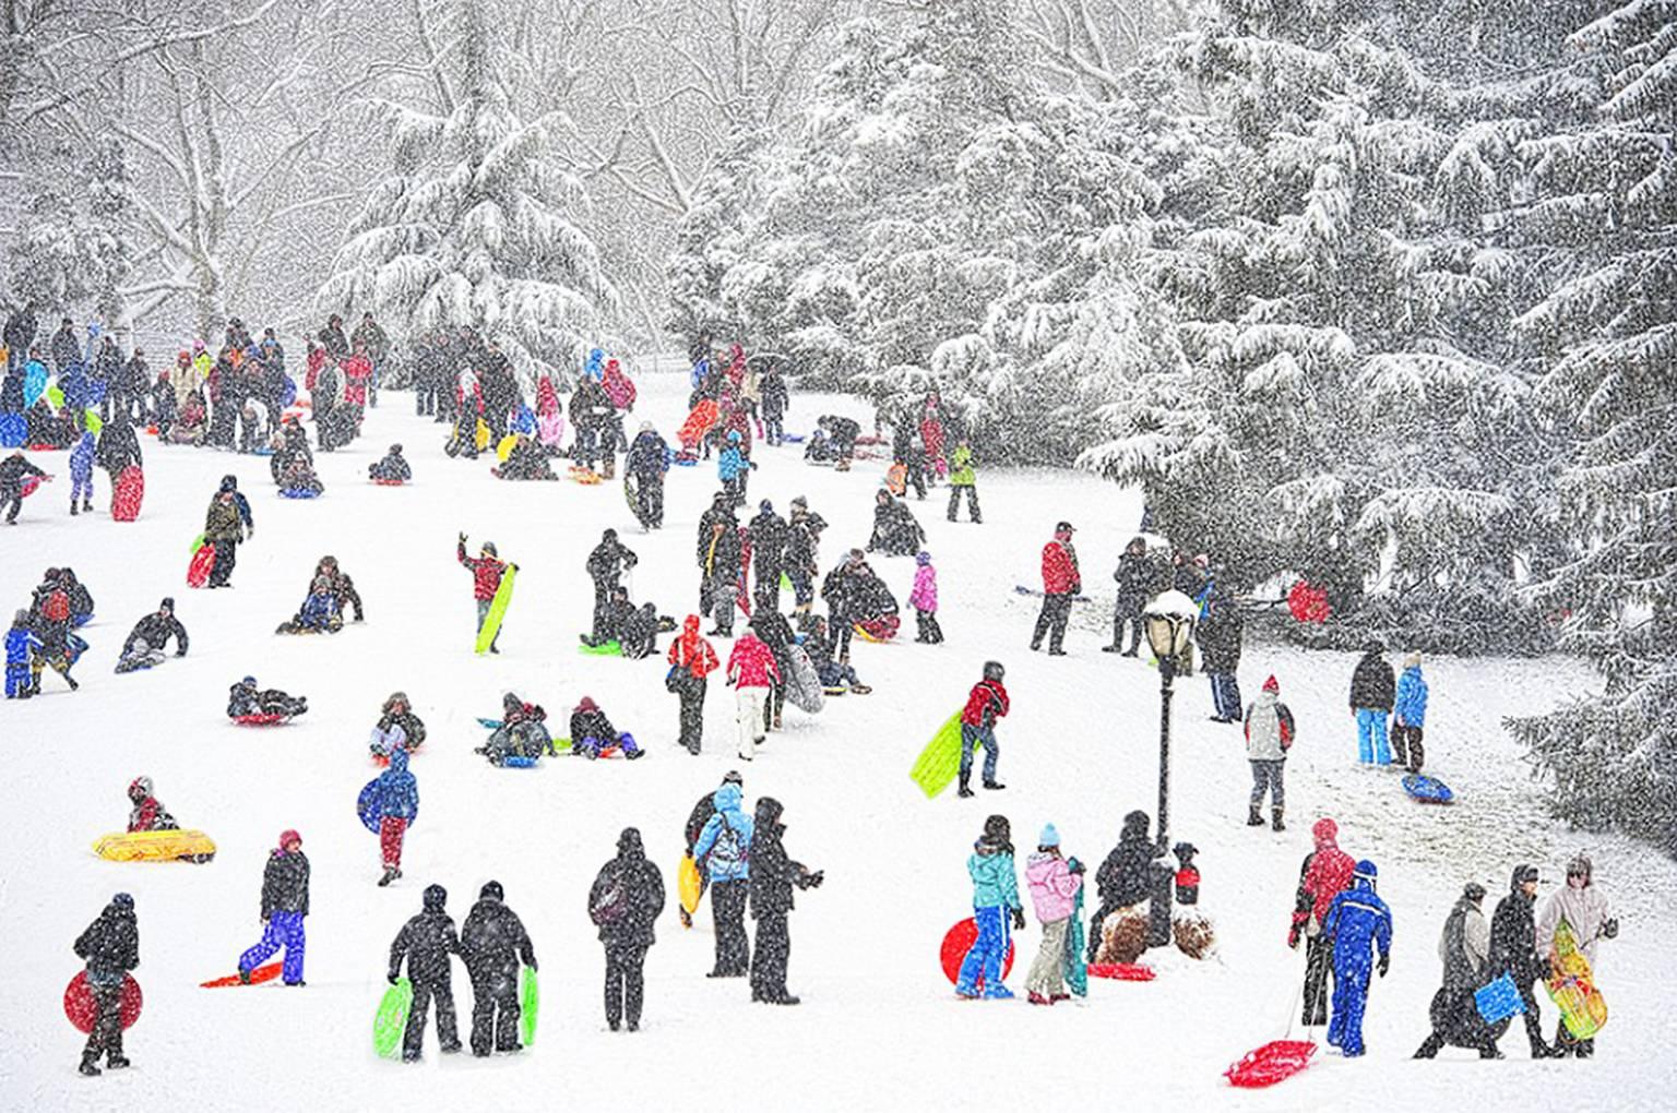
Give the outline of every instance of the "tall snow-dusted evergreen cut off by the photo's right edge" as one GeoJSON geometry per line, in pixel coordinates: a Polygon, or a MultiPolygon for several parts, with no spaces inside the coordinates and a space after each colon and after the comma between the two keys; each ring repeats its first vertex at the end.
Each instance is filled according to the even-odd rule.
{"type": "Polygon", "coordinates": [[[1514,221],[1561,278],[1518,327],[1578,543],[1534,595],[1605,691],[1511,727],[1558,815],[1677,853],[1677,3],[1595,7],[1563,74],[1585,116],[1524,144],[1536,199],[1514,221]]]}

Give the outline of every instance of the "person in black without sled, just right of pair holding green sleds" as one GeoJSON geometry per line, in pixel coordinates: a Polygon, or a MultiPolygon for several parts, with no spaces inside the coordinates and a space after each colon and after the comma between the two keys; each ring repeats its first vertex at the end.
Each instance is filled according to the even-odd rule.
{"type": "Polygon", "coordinates": [[[641,831],[626,826],[617,836],[617,857],[600,867],[589,888],[589,917],[605,944],[605,1022],[641,1031],[641,1002],[646,996],[642,965],[657,942],[652,924],[664,912],[664,878],[647,862],[641,831]]]}

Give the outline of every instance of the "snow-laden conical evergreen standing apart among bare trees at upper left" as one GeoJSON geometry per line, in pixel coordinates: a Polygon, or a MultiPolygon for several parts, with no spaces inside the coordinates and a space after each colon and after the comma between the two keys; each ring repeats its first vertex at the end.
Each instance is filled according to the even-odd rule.
{"type": "Polygon", "coordinates": [[[522,122],[496,79],[488,0],[453,0],[459,80],[446,114],[379,106],[394,148],[320,288],[322,310],[371,308],[394,335],[473,327],[513,364],[580,365],[615,305],[594,243],[570,220],[580,183],[543,161],[545,121],[522,122]]]}

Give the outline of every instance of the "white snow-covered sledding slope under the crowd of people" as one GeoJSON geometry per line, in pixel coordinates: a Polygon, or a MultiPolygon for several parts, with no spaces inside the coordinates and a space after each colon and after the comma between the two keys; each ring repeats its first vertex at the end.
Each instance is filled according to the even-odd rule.
{"type": "MultiPolygon", "coordinates": [[[[674,377],[642,382],[637,417],[671,429],[683,394],[674,377]]],[[[1424,810],[1404,798],[1395,773],[1355,766],[1350,657],[1248,647],[1244,696],[1275,672],[1300,722],[1285,835],[1243,825],[1249,774],[1239,733],[1207,722],[1204,679],[1184,681],[1172,836],[1201,846],[1202,909],[1219,927],[1219,959],[1196,965],[1164,955],[1152,984],[1097,981],[1085,1002],[1051,1011],[953,997],[937,944],[968,915],[964,860],[986,813],[1011,818],[1021,855],[1053,821],[1068,853],[1097,863],[1125,811],[1155,806],[1157,672],[1097,652],[1108,637],[1103,588],[1137,521],[1137,500],[1088,476],[1041,471],[981,471],[983,526],[946,523],[942,491],[916,506],[937,558],[949,642],[859,642],[855,664],[874,694],[832,701],[818,717],[788,706],[787,731],[745,768],[748,800],[780,798],[793,857],[827,872],[827,885],[800,893],[792,917],[790,984],[805,1004],[751,1006],[743,982],[706,981],[709,909],[684,932],[671,907],[647,962],[644,1033],[609,1033],[589,882],[619,828],[636,825],[672,888],[693,801],[740,763],[726,734],[731,692],[719,684],[706,709],[706,753],[694,759],[674,744],[676,701],[662,689],[661,664],[575,652],[590,600],[582,562],[600,528],[615,526],[641,553],[634,598],[688,613],[698,588],[693,528],[714,473],[711,464],[674,471],[666,530],[642,536],[615,486],[496,483],[486,463],[448,461],[441,426],[418,421],[409,406],[406,394],[387,396],[369,417],[369,436],[324,458],[327,494],[314,503],[275,498],[263,459],[148,443],[149,489],[138,525],[114,525],[102,511],[69,518],[65,479],[25,503],[23,525],[0,531],[7,608],[27,603],[47,565],[74,567],[97,600],[82,691],[69,694],[49,674],[45,697],[0,709],[15,831],[0,873],[0,1108],[520,1110],[562,1100],[642,1110],[696,1095],[729,1105],[798,1095],[808,1108],[1020,1108],[1031,1100],[1083,1108],[1120,1095],[1253,1110],[1327,1106],[1348,1095],[1365,1108],[1670,1108],[1677,865],[1550,823],[1541,788],[1499,729],[1504,714],[1548,707],[1590,684],[1558,659],[1429,664],[1429,766],[1462,803],[1424,810]],[[367,463],[391,441],[406,443],[414,463],[409,488],[366,483],[367,463]],[[188,543],[226,471],[252,496],[257,535],[240,550],[235,590],[190,592],[188,543]],[[1078,525],[1097,602],[1080,608],[1072,655],[1048,659],[1025,650],[1035,600],[1011,587],[1035,583],[1040,546],[1058,518],[1078,525]],[[496,541],[522,568],[498,659],[470,652],[471,583],[453,553],[459,530],[473,545],[496,541]],[[322,553],[337,555],[356,578],[367,624],[330,639],[275,637],[322,553]],[[114,676],[121,639],[163,595],[178,598],[191,655],[114,676]],[[909,764],[986,657],[1006,662],[1015,701],[999,731],[1008,789],[927,803],[907,779],[909,764]],[[230,726],[226,687],[247,672],[307,694],[314,711],[280,731],[230,726]],[[367,729],[392,689],[413,696],[431,741],[414,761],[423,803],[406,877],[381,890],[376,840],[357,823],[354,801],[374,774],[367,729]],[[651,756],[491,769],[471,754],[481,739],[473,719],[496,714],[506,689],[553,716],[590,694],[651,744],[651,756]],[[121,830],[122,789],[139,773],[156,779],[183,825],[215,836],[211,865],[117,865],[89,852],[96,836],[121,830]],[[1375,984],[1370,1002],[1370,1054],[1323,1054],[1276,1090],[1236,1093],[1221,1071],[1288,1024],[1301,971],[1301,955],[1285,945],[1288,912],[1318,815],[1340,820],[1347,850],[1378,862],[1395,915],[1392,976],[1375,984]],[[309,987],[198,989],[230,972],[260,935],[262,865],[288,826],[302,830],[314,863],[309,987]],[[1439,977],[1439,927],[1462,883],[1486,885],[1489,912],[1516,863],[1543,863],[1548,888],[1580,845],[1595,853],[1598,882],[1625,929],[1602,949],[1613,1019],[1597,1061],[1531,1063],[1516,1022],[1504,1039],[1508,1061],[1481,1064],[1471,1053],[1446,1051],[1412,1063],[1439,977]],[[542,959],[537,1046],[517,1059],[443,1058],[433,1028],[423,1066],[374,1058],[371,1019],[389,940],[418,910],[419,890],[444,883],[449,910],[463,920],[491,877],[506,887],[542,959]],[[70,940],[117,890],[132,892],[139,910],[136,974],[146,1012],[127,1039],[134,1068],[84,1079],[75,1074],[80,1038],[59,999],[79,969],[70,940]]],[[[790,426],[808,429],[817,412],[815,399],[798,397],[790,426]]],[[[792,448],[758,459],[753,506],[771,498],[785,511],[803,493],[833,523],[823,567],[865,540],[882,463],[835,474],[805,468],[792,448]]],[[[62,456],[47,466],[67,471],[62,456]]],[[[875,568],[906,598],[911,562],[882,558],[875,568]]],[[[1015,987],[1038,939],[1035,924],[1018,937],[1015,987]]],[[[463,971],[454,987],[465,1031],[463,971]]],[[[1553,1022],[1546,1007],[1546,1028],[1553,1022]]]]}

